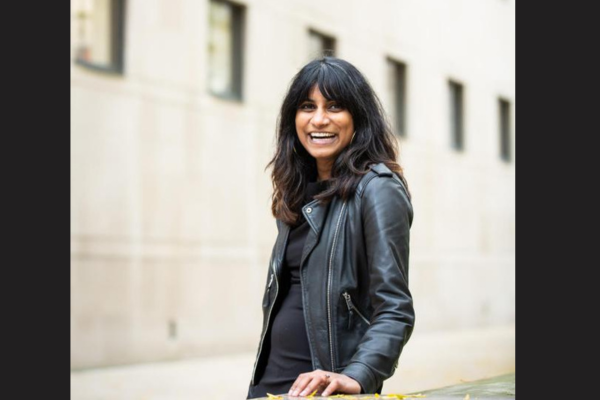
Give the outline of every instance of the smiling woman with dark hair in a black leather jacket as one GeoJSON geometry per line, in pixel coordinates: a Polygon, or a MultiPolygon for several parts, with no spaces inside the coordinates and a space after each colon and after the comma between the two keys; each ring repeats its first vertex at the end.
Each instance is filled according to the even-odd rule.
{"type": "Polygon", "coordinates": [[[347,61],[294,77],[271,166],[278,236],[248,398],[381,392],[414,326],[412,206],[381,104],[347,61]]]}

